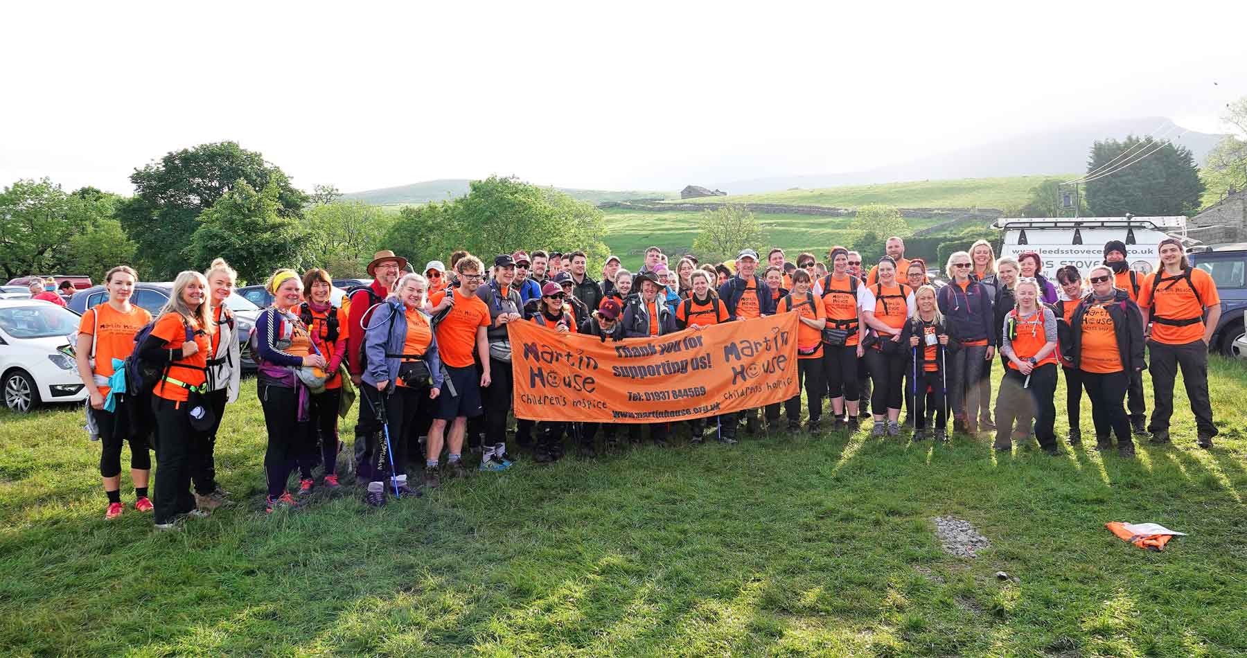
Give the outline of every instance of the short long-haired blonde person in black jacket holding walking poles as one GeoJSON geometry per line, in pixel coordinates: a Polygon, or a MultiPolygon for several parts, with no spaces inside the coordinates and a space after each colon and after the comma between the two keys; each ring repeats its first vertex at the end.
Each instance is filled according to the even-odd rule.
{"type": "MultiPolygon", "coordinates": [[[[949,336],[944,317],[935,302],[935,288],[924,284],[914,293],[914,314],[900,331],[902,345],[909,346],[910,390],[905,391],[909,400],[909,415],[914,419],[914,440],[933,437],[946,441],[948,405],[948,353],[960,349],[960,343],[949,336]],[[930,389],[930,404],[935,409],[934,432],[927,427],[927,390],[930,389]]],[[[955,381],[954,381],[955,384],[955,381]]]]}

